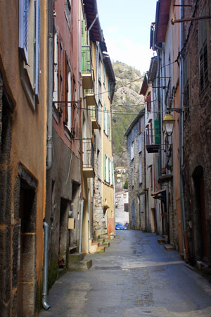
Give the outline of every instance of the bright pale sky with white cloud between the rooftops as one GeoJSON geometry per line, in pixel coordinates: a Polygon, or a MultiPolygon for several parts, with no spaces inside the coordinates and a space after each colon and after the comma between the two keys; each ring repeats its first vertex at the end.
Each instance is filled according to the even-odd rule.
{"type": "Polygon", "coordinates": [[[121,61],[141,73],[149,68],[151,23],[157,0],[97,0],[98,16],[111,61],[121,61]]]}

